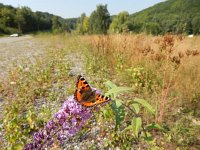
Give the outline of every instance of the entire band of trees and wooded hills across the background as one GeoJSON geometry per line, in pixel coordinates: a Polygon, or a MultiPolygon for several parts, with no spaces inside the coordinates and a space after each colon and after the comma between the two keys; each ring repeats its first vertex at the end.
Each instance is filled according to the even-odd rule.
{"type": "Polygon", "coordinates": [[[0,33],[27,33],[51,30],[53,33],[76,34],[173,32],[200,34],[200,1],[168,0],[138,13],[126,11],[111,16],[107,5],[97,5],[90,16],[64,19],[44,12],[32,12],[28,7],[14,8],[0,4],[0,33]]]}

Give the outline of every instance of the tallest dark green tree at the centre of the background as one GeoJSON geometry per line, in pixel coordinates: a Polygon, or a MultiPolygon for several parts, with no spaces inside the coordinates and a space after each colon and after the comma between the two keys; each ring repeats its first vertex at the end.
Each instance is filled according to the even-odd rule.
{"type": "Polygon", "coordinates": [[[107,5],[98,5],[90,15],[89,31],[94,34],[106,34],[110,23],[107,5]]]}

